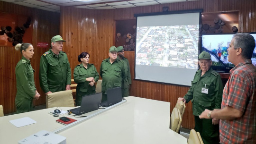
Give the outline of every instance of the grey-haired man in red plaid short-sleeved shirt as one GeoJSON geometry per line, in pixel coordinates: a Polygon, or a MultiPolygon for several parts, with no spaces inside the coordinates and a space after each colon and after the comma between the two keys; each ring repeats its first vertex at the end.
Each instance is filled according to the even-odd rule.
{"type": "Polygon", "coordinates": [[[220,119],[221,144],[256,144],[256,68],[252,64],[254,37],[235,34],[228,60],[236,67],[223,90],[221,109],[204,110],[200,119],[220,119]]]}

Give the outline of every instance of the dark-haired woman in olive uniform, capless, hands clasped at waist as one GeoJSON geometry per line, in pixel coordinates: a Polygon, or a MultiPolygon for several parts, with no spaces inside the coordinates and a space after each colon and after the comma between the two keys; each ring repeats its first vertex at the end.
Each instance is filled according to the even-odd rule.
{"type": "Polygon", "coordinates": [[[90,54],[82,52],[78,56],[81,63],[74,68],[74,82],[76,86],[76,105],[81,105],[82,96],[96,93],[95,83],[99,80],[99,73],[93,64],[89,64],[90,54]]]}

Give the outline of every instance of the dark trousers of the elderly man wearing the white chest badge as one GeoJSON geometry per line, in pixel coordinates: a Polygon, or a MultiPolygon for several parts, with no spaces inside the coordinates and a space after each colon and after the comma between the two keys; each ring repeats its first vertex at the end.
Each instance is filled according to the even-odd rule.
{"type": "Polygon", "coordinates": [[[200,133],[204,144],[219,144],[219,125],[212,125],[212,119],[195,116],[195,130],[200,133]]]}

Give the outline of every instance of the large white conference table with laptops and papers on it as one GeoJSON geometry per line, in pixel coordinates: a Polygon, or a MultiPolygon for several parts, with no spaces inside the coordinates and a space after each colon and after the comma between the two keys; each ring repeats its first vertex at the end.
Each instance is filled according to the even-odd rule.
{"type": "Polygon", "coordinates": [[[48,114],[55,109],[0,117],[0,144],[18,144],[21,139],[41,130],[66,137],[67,144],[187,144],[185,137],[169,128],[169,102],[129,96],[126,101],[106,109],[83,114],[85,118],[62,115],[77,119],[66,126],[56,122],[59,117],[48,114]],[[24,117],[37,123],[15,127],[9,122],[24,117]]]}

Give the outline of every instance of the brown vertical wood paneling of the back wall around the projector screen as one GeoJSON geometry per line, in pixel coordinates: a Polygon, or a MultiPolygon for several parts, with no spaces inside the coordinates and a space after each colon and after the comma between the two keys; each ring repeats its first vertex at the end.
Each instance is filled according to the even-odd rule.
{"type": "MultiPolygon", "coordinates": [[[[119,8],[109,10],[65,8],[62,10],[61,19],[63,23],[70,23],[71,21],[79,22],[82,18],[88,17],[89,24],[83,23],[83,26],[81,26],[82,29],[86,29],[85,31],[81,31],[80,34],[83,36],[83,39],[86,42],[82,43],[82,45],[85,44],[86,49],[88,48],[89,51],[92,51],[91,62],[95,64],[97,70],[99,71],[101,60],[108,57],[108,49],[111,45],[114,45],[114,20],[133,19],[133,15],[137,13],[161,12],[163,6],[168,6],[170,11],[198,8],[203,8],[203,12],[240,10],[239,31],[249,32],[256,30],[256,24],[254,24],[254,19],[256,18],[254,13],[256,11],[251,5],[256,5],[256,2],[253,0],[198,0],[155,6],[143,6],[138,8],[119,8]],[[77,17],[77,15],[80,15],[80,17],[77,17]],[[94,27],[90,27],[90,24],[94,25],[94,27]],[[92,30],[92,32],[91,28],[96,31],[92,30]],[[93,40],[90,41],[90,37],[93,40]]],[[[61,33],[64,35],[64,37],[70,32],[71,31],[66,30],[66,27],[61,28],[61,33]]],[[[73,36],[79,37],[78,34],[73,34],[73,36]]],[[[70,47],[68,42],[66,44],[67,45],[65,47],[70,47]]],[[[78,49],[80,51],[82,50],[80,48],[78,49]]],[[[76,55],[73,53],[68,53],[69,59],[71,57],[76,57],[76,55]]],[[[133,53],[130,51],[125,53],[125,57],[130,60],[131,69],[134,68],[134,56],[132,55],[133,53]]],[[[71,65],[74,67],[75,62],[72,61],[71,65]]],[[[132,78],[134,78],[134,70],[131,70],[131,74],[132,78]]],[[[172,109],[177,101],[177,98],[182,97],[188,91],[188,89],[189,87],[187,86],[160,84],[133,79],[130,94],[138,97],[171,102],[172,109]]],[[[187,110],[184,114],[184,118],[183,127],[193,128],[194,124],[191,102],[187,104],[187,110]]]]}

